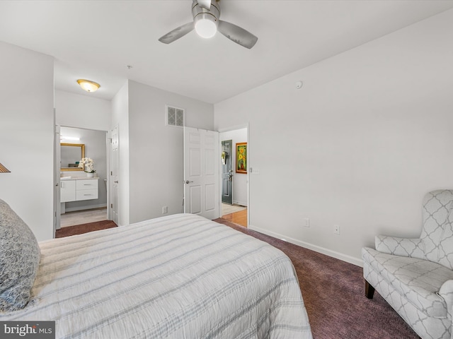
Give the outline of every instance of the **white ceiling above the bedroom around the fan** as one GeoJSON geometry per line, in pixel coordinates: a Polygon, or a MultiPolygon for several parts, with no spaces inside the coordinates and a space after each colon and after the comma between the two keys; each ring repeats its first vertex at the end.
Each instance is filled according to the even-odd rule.
{"type": "Polygon", "coordinates": [[[195,31],[159,42],[192,20],[191,4],[3,0],[0,41],[55,57],[57,90],[111,100],[130,79],[216,103],[453,8],[452,0],[222,0],[221,20],[256,35],[255,47],[195,31]],[[101,88],[86,93],[78,78],[101,88]]]}

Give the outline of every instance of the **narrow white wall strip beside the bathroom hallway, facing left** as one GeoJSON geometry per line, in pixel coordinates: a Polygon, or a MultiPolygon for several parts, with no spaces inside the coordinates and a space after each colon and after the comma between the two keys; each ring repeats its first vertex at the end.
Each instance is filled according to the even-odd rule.
{"type": "Polygon", "coordinates": [[[128,225],[130,215],[130,169],[129,169],[129,82],[118,91],[112,100],[112,126],[118,127],[118,215],[119,224],[128,225]]]}

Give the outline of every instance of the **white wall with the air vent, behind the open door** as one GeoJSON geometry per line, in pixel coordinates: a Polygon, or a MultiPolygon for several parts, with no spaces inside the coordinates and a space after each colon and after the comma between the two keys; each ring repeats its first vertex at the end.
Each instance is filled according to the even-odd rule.
{"type": "Polygon", "coordinates": [[[129,81],[130,222],[183,212],[183,129],[165,125],[165,105],[184,108],[186,126],[214,128],[212,104],[129,81]]]}

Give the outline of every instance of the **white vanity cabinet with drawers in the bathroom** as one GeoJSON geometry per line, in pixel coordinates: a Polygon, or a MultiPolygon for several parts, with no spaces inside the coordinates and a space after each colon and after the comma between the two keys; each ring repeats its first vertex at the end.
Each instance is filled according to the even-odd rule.
{"type": "Polygon", "coordinates": [[[69,179],[60,181],[60,202],[98,198],[98,179],[69,179]]]}

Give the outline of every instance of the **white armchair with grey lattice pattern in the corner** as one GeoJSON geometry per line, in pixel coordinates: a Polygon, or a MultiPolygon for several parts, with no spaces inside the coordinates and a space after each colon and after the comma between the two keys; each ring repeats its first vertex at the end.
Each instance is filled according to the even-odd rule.
{"type": "Polygon", "coordinates": [[[376,237],[362,249],[365,295],[374,289],[423,339],[453,339],[453,190],[423,199],[420,239],[376,237]]]}

